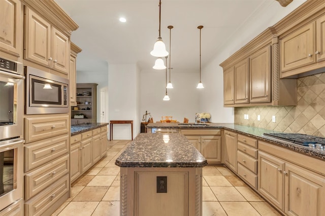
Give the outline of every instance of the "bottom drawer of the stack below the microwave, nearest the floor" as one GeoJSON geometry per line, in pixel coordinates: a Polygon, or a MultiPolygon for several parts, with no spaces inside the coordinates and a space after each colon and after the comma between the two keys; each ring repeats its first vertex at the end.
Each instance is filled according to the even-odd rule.
{"type": "Polygon", "coordinates": [[[47,210],[51,209],[51,206],[55,202],[59,202],[61,197],[65,200],[68,199],[68,192],[69,174],[65,175],[53,185],[25,202],[25,215],[50,215],[51,213],[47,213],[47,210]]]}

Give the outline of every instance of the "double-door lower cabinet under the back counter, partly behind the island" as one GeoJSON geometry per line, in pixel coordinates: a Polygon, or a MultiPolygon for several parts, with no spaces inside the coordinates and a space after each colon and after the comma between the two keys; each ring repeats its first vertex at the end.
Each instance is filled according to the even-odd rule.
{"type": "Polygon", "coordinates": [[[182,129],[181,134],[196,147],[208,163],[221,162],[221,131],[219,129],[182,129]]]}

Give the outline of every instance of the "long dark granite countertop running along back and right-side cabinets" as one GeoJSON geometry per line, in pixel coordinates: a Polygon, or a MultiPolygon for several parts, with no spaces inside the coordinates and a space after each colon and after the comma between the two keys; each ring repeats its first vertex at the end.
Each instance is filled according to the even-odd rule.
{"type": "Polygon", "coordinates": [[[252,127],[252,126],[244,126],[233,123],[206,123],[208,125],[178,125],[178,123],[149,123],[147,128],[179,128],[179,129],[197,129],[197,128],[215,128],[215,129],[228,129],[229,131],[233,131],[248,137],[252,137],[258,140],[266,141],[271,144],[281,146],[311,157],[315,157],[317,159],[325,160],[325,151],[320,151],[317,149],[311,149],[307,146],[302,146],[295,143],[281,142],[279,140],[273,140],[271,138],[264,137],[264,133],[279,133],[278,131],[270,131],[268,129],[252,127]]]}

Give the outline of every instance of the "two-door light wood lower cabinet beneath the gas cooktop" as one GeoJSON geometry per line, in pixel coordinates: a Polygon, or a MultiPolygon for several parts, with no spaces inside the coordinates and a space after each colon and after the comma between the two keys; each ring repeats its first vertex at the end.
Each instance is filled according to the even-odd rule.
{"type": "Polygon", "coordinates": [[[286,215],[323,215],[324,161],[285,149],[278,157],[265,142],[262,148],[270,153],[258,151],[258,192],[286,215]]]}

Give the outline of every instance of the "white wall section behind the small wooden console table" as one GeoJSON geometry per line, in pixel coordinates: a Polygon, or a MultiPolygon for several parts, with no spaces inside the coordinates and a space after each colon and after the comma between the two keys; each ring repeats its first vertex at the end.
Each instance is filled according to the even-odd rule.
{"type": "MultiPolygon", "coordinates": [[[[133,120],[134,137],[140,132],[138,116],[139,70],[136,64],[111,64],[108,67],[109,120],[133,120]]],[[[131,140],[129,124],[114,124],[114,140],[131,140]]]]}

